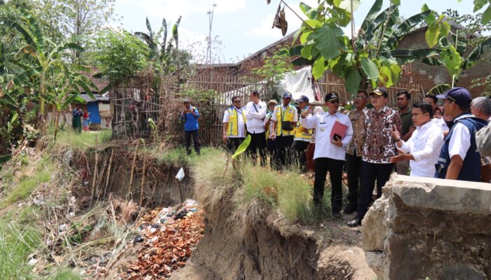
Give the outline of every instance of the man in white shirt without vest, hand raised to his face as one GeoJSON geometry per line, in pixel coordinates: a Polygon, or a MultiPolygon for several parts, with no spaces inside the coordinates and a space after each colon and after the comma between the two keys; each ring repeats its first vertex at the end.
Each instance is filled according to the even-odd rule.
{"type": "Polygon", "coordinates": [[[262,125],[266,116],[266,102],[259,99],[259,92],[254,90],[249,95],[250,102],[245,106],[245,119],[247,120],[247,134],[250,135],[248,153],[257,163],[257,150],[261,158],[261,166],[266,166],[266,134],[262,125]]]}

